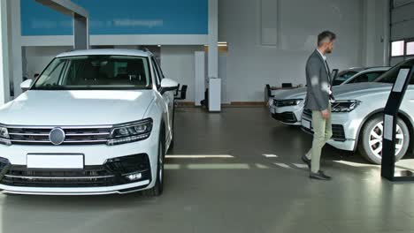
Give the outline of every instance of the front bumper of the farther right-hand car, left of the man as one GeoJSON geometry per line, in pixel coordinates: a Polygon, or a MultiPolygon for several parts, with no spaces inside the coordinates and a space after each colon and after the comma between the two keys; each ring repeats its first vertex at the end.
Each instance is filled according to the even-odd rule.
{"type": "Polygon", "coordinates": [[[303,108],[298,106],[276,107],[270,106],[272,117],[282,124],[301,125],[303,108]]]}

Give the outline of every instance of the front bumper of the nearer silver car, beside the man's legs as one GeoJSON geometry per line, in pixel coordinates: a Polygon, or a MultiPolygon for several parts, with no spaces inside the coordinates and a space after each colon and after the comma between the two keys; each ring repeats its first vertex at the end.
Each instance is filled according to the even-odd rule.
{"type": "MultiPolygon", "coordinates": [[[[352,112],[351,112],[352,113],[352,112]]],[[[327,144],[332,147],[355,151],[357,148],[357,133],[361,122],[355,117],[350,116],[351,113],[333,113],[332,114],[332,129],[333,138],[327,144]]],[[[302,130],[313,134],[312,117],[306,111],[303,111],[302,116],[302,130]],[[311,126],[311,127],[309,127],[311,126]]]]}

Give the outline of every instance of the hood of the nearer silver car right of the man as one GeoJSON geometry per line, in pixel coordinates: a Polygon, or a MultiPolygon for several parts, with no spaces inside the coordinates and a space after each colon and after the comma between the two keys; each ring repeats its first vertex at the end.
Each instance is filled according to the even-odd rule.
{"type": "Polygon", "coordinates": [[[343,86],[334,86],[336,100],[357,100],[361,96],[371,94],[389,94],[392,84],[388,83],[357,83],[343,86]]]}

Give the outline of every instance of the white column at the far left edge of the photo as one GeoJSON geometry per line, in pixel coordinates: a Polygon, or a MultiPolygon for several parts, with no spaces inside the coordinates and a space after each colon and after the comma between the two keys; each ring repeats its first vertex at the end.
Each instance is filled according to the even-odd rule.
{"type": "Polygon", "coordinates": [[[0,1],[0,105],[10,100],[9,38],[8,38],[8,1],[0,1]]]}

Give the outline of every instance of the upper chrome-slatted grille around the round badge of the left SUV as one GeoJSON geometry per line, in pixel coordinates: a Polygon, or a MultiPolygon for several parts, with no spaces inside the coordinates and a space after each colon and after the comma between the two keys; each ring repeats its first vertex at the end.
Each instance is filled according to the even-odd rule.
{"type": "MultiPolygon", "coordinates": [[[[55,127],[9,126],[7,128],[13,145],[52,145],[50,131],[55,127]]],[[[60,127],[65,132],[62,145],[106,144],[111,126],[60,127]]]]}

